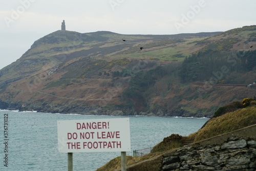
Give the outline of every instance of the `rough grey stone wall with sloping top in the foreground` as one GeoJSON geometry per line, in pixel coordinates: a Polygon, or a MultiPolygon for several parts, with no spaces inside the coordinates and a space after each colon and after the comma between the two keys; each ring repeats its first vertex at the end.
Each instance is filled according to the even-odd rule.
{"type": "Polygon", "coordinates": [[[127,171],[256,170],[256,125],[198,141],[144,162],[127,167],[127,171]],[[154,167],[156,161],[161,161],[158,167],[154,167]],[[141,168],[142,165],[145,167],[141,168]]]}

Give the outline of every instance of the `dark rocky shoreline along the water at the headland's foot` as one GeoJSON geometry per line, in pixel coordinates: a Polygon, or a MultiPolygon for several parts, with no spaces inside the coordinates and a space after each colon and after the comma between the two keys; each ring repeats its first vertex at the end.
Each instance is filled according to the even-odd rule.
{"type": "Polygon", "coordinates": [[[108,110],[104,108],[100,108],[97,106],[82,106],[82,105],[52,105],[52,104],[22,104],[18,102],[6,102],[0,100],[0,109],[2,110],[18,110],[19,112],[23,111],[37,111],[43,113],[61,113],[61,114],[84,114],[84,115],[114,115],[114,116],[172,116],[172,117],[195,117],[202,118],[207,117],[210,118],[212,114],[204,114],[204,113],[191,113],[185,111],[184,109],[179,110],[162,110],[155,109],[150,112],[136,112],[131,109],[115,109],[108,110]]]}

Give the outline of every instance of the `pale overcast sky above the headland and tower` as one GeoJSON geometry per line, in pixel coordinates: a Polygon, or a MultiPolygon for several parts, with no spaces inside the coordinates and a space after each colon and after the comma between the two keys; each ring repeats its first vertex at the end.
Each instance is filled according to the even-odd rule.
{"type": "Polygon", "coordinates": [[[179,34],[256,25],[255,0],[1,0],[0,69],[60,30],[179,34]]]}

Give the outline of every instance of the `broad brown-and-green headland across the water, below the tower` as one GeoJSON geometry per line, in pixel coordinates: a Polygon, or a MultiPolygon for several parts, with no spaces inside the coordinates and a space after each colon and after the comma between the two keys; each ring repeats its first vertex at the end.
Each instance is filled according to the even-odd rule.
{"type": "MultiPolygon", "coordinates": [[[[239,68],[233,71],[236,58],[228,58],[232,61],[228,62],[224,57],[233,56],[239,50],[248,51],[246,47],[255,41],[252,39],[255,28],[234,29],[225,34],[178,35],[56,31],[36,40],[16,62],[0,70],[0,108],[82,114],[116,111],[118,115],[211,116],[224,103],[256,93],[253,87],[246,88],[254,81],[255,72],[240,72],[239,68]],[[217,71],[212,71],[218,77],[213,84],[209,80],[216,74],[210,71],[208,75],[201,74],[206,73],[205,68],[195,63],[205,61],[198,56],[200,61],[189,63],[195,67],[184,70],[193,78],[186,81],[187,77],[181,74],[182,61],[205,50],[218,51],[221,54],[218,60],[223,57],[230,72],[221,69],[220,62],[219,68],[214,68],[217,71]],[[219,71],[224,72],[220,75],[219,71]],[[234,72],[243,79],[234,79],[234,72]],[[200,78],[206,81],[198,81],[200,78]],[[240,86],[216,85],[224,79],[240,86]]],[[[216,55],[211,56],[214,58],[216,55]]]]}

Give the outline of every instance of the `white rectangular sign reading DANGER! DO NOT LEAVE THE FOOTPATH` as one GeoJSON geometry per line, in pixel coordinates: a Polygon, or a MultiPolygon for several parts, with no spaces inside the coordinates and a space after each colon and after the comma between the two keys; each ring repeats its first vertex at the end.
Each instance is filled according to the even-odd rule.
{"type": "Polygon", "coordinates": [[[59,120],[58,150],[76,152],[130,152],[130,119],[59,120]]]}

